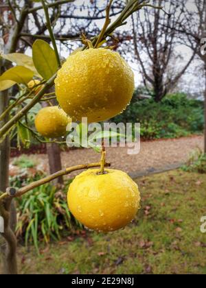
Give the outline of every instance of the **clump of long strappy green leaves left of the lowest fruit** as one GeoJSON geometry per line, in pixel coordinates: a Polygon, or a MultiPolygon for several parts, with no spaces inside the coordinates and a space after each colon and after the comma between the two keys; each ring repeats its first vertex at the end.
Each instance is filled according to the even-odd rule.
{"type": "MultiPolygon", "coordinates": [[[[34,178],[15,176],[10,179],[10,184],[12,187],[23,187],[41,178],[41,173],[36,173],[34,178]]],[[[49,183],[16,200],[18,217],[16,235],[20,239],[25,239],[25,245],[34,243],[38,252],[40,241],[49,243],[51,239],[60,239],[65,230],[71,230],[73,224],[82,227],[68,210],[66,191],[70,182],[66,185],[65,191],[49,183]]]]}

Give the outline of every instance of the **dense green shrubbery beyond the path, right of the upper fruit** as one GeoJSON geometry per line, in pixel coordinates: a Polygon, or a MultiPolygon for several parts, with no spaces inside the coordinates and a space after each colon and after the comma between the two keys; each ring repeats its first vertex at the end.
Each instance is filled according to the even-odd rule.
{"type": "Polygon", "coordinates": [[[185,94],[168,95],[161,102],[137,100],[112,121],[141,123],[143,139],[176,138],[200,134],[204,128],[203,102],[187,99],[185,94]]]}

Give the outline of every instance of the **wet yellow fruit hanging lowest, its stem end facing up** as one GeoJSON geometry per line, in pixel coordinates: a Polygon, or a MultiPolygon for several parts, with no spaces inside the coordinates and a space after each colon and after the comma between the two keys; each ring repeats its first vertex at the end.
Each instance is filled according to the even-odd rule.
{"type": "Polygon", "coordinates": [[[89,229],[110,232],[124,228],[139,210],[137,184],[123,171],[84,171],[73,180],[67,199],[69,210],[89,229]]]}

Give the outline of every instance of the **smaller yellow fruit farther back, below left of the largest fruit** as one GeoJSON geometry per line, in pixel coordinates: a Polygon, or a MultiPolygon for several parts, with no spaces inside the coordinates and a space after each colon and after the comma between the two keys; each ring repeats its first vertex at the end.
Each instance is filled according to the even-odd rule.
{"type": "Polygon", "coordinates": [[[47,138],[56,138],[66,134],[66,128],[71,119],[58,106],[45,107],[36,115],[36,130],[47,138]]]}

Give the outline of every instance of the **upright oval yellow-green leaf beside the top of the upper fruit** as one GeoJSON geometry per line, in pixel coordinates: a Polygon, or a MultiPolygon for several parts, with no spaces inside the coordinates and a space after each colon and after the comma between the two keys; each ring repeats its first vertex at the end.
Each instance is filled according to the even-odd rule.
{"type": "Polygon", "coordinates": [[[32,53],[36,70],[45,80],[49,80],[58,70],[54,49],[47,42],[36,40],[32,53]]]}

